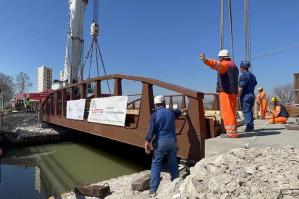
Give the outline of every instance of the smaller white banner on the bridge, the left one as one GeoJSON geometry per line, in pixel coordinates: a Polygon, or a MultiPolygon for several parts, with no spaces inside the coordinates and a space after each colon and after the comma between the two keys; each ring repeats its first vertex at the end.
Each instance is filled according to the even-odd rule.
{"type": "Polygon", "coordinates": [[[67,101],[66,118],[73,120],[83,120],[85,101],[85,99],[67,101]]]}

